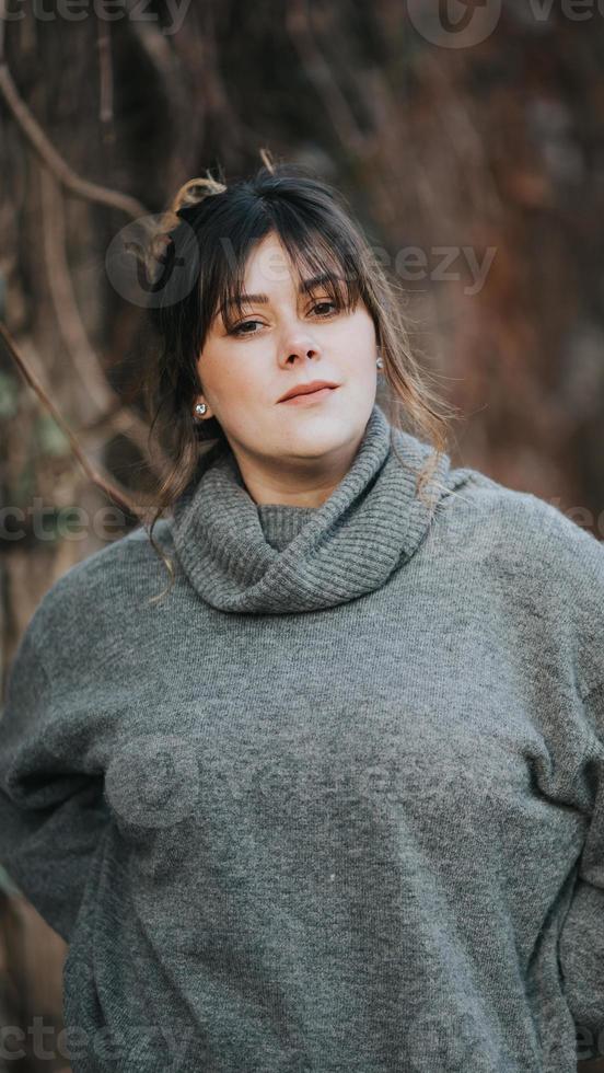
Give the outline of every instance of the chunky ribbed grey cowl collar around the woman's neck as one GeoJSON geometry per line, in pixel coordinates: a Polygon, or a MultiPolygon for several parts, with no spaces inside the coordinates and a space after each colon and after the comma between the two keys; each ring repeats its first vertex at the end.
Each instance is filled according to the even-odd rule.
{"type": "Polygon", "coordinates": [[[425,487],[429,508],[415,485],[431,450],[391,427],[375,403],[357,454],[328,499],[294,507],[256,504],[233,452],[223,449],[211,462],[201,460],[174,504],[170,524],[181,565],[199,596],[220,611],[315,611],[372,592],[428,531],[450,469],[449,455],[441,455],[425,487]]]}

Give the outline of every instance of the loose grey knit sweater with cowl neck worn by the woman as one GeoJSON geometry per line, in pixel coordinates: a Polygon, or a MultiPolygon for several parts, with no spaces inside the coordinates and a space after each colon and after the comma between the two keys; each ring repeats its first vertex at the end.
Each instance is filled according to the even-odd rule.
{"type": "Polygon", "coordinates": [[[375,405],[314,509],[216,452],[156,527],[167,596],[139,528],[36,609],[0,862],[70,944],[74,1073],[604,1050],[604,547],[448,457],[430,509],[429,450],[375,405]]]}

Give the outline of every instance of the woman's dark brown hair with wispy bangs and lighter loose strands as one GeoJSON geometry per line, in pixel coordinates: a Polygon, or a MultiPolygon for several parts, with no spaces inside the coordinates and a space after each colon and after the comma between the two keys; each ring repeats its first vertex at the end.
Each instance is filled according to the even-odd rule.
{"type": "Polygon", "coordinates": [[[420,369],[396,285],[374,258],[345,198],[302,165],[276,164],[265,151],[262,158],[251,178],[226,184],[208,172],[205,178],[189,180],[172,199],[156,235],[167,244],[169,262],[172,257],[182,272],[172,277],[176,284],[155,292],[159,300],[154,297],[148,309],[160,345],[151,347],[143,396],[152,416],[150,437],[169,441],[173,464],[160,482],[146,527],[173,580],[173,564],[153,540],[155,522],[195,476],[205,453],[200,448],[228,445],[214,417],[196,423],[193,416],[202,391],[199,355],[219,309],[223,316],[231,308],[241,315],[239,296],[251,243],[270,232],[279,235],[299,281],[307,270],[322,275],[336,304],[350,310],[360,298],[373,318],[390,389],[384,407],[388,422],[398,428],[407,425],[434,448],[418,475],[420,496],[448,448],[452,411],[429,385],[433,374],[420,369]]]}

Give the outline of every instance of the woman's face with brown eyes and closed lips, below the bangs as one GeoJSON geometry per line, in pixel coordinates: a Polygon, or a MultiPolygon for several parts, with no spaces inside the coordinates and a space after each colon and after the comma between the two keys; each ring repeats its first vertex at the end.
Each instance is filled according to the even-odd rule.
{"type": "MultiPolygon", "coordinates": [[[[341,470],[358,447],[376,391],[376,338],[362,302],[347,313],[317,285],[298,293],[287,251],[275,233],[249,255],[243,313],[230,333],[220,314],[198,369],[207,416],[218,419],[243,476],[279,471],[289,482],[317,463],[341,470]],[[260,298],[264,296],[264,298],[260,298]],[[326,380],[330,391],[280,402],[300,383],[326,380]]],[[[341,473],[340,473],[341,476],[341,473]]],[[[270,501],[270,500],[269,500],[270,501]]]]}

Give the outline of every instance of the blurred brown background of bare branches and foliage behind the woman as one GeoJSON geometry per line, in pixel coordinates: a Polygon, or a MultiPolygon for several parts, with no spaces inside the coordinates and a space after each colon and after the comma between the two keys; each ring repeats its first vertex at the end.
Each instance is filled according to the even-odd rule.
{"type": "MultiPolygon", "coordinates": [[[[0,320],[91,462],[144,491],[156,463],[141,310],[112,286],[106,250],[187,178],[246,174],[266,147],[340,187],[384,264],[403,254],[413,344],[463,414],[454,462],[602,538],[604,16],[504,0],[486,39],[446,48],[408,7],[124,0],[121,18],[91,2],[69,20],[55,0],[13,4],[22,16],[0,19],[0,320]]],[[[66,535],[66,511],[97,517],[111,500],[1,339],[0,417],[5,674],[55,578],[136,519],[66,535]]],[[[60,1023],[63,944],[8,885],[0,898],[0,1019],[60,1023]]]]}

